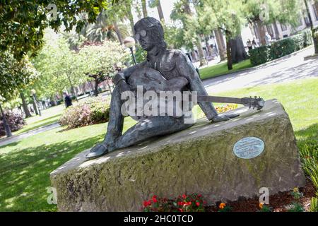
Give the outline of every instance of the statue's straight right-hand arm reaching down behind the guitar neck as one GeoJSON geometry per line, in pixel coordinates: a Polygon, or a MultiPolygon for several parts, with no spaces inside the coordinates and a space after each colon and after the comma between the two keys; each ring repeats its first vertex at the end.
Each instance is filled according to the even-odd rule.
{"type": "MultiPolygon", "coordinates": [[[[208,93],[206,93],[206,88],[204,88],[196,69],[194,69],[192,62],[189,61],[189,58],[181,51],[176,50],[175,61],[180,76],[187,78],[189,81],[190,90],[196,91],[198,95],[208,95],[208,93]]],[[[212,120],[213,117],[218,115],[212,103],[198,102],[198,104],[209,120],[212,120]]]]}

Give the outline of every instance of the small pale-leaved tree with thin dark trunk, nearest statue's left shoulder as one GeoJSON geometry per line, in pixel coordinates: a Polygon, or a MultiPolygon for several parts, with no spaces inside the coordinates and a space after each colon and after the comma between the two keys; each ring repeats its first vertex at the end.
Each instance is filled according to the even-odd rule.
{"type": "Polygon", "coordinates": [[[101,45],[84,46],[77,57],[82,73],[94,79],[97,96],[98,84],[111,78],[130,54],[117,42],[105,41],[101,45]]]}

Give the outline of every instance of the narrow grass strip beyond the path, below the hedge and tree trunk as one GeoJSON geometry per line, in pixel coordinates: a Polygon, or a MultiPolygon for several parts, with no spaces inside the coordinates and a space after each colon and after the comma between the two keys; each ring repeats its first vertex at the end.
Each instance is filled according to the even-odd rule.
{"type": "Polygon", "coordinates": [[[243,69],[248,69],[252,67],[251,61],[249,59],[245,61],[241,61],[238,64],[233,64],[233,69],[228,71],[228,63],[227,62],[220,62],[213,66],[208,66],[204,69],[200,69],[200,77],[202,80],[207,78],[213,78],[216,76],[224,75],[226,73],[232,73],[235,71],[241,71],[243,69]]]}

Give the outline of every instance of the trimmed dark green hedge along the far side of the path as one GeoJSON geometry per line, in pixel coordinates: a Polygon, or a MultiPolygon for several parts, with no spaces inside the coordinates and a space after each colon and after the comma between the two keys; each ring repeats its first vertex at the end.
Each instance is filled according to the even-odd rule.
{"type": "Polygon", "coordinates": [[[266,46],[257,47],[249,50],[251,63],[256,66],[267,61],[284,57],[312,44],[310,30],[300,32],[298,35],[273,42],[266,46]]]}

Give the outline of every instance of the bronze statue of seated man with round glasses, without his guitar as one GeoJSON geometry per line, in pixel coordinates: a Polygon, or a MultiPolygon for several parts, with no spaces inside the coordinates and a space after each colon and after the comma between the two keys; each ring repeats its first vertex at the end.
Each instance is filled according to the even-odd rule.
{"type": "MultiPolygon", "coordinates": [[[[143,78],[142,76],[162,75],[163,79],[167,81],[167,85],[162,88],[162,91],[169,89],[175,91],[177,85],[185,85],[187,90],[196,91],[197,95],[208,95],[189,58],[180,50],[167,49],[163,26],[158,20],[151,17],[143,18],[136,23],[134,30],[136,40],[147,52],[147,59],[141,64],[131,66],[114,76],[113,82],[116,87],[113,90],[110,103],[110,121],[108,122],[107,133],[104,141],[95,145],[90,150],[90,153],[86,155],[88,159],[100,157],[118,148],[134,145],[153,136],[174,133],[192,126],[192,124],[184,123],[183,116],[135,117],[134,119],[139,122],[122,134],[124,124],[124,115],[121,112],[123,104],[122,93],[135,89],[136,87],[132,87],[135,83],[137,83],[135,85],[143,85],[148,90],[154,86],[157,88],[163,87],[163,85],[159,85],[161,84],[160,79],[146,79],[146,77],[143,78]],[[158,82],[158,85],[153,82],[158,82]]],[[[198,104],[206,117],[214,122],[226,121],[238,116],[237,114],[225,114],[221,117],[211,102],[198,102],[198,104]]]]}

